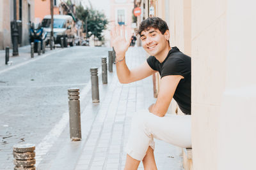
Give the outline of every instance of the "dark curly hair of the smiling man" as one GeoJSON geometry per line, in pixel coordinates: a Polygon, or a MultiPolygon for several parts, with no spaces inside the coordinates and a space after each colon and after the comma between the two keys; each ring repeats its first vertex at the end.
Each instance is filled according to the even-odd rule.
{"type": "Polygon", "coordinates": [[[164,34],[166,30],[169,30],[168,25],[164,20],[159,17],[148,17],[146,20],[143,20],[140,24],[140,27],[137,31],[137,34],[141,35],[142,31],[148,30],[150,28],[159,29],[159,31],[164,34]]]}

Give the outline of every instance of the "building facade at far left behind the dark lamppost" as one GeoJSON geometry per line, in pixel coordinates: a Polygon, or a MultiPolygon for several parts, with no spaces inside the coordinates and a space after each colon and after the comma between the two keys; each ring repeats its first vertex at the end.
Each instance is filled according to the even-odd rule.
{"type": "MultiPolygon", "coordinates": [[[[6,46],[12,48],[11,26],[13,20],[13,2],[0,1],[0,50],[6,46]]],[[[22,22],[22,43],[20,46],[29,44],[29,22],[34,20],[35,1],[33,0],[16,0],[17,20],[22,22]]]]}

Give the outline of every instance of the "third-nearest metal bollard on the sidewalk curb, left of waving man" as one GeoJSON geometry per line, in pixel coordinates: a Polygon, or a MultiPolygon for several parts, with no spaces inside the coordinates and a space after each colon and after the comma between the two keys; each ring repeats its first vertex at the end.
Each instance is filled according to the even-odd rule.
{"type": "Polygon", "coordinates": [[[99,103],[99,78],[98,68],[91,68],[91,81],[92,81],[92,103],[99,103]]]}

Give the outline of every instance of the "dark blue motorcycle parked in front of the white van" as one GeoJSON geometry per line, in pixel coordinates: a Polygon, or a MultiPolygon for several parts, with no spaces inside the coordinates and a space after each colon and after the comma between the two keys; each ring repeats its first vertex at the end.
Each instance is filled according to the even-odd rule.
{"type": "Polygon", "coordinates": [[[46,38],[47,32],[44,32],[42,25],[39,24],[31,24],[30,27],[30,34],[29,34],[29,41],[30,43],[34,43],[34,52],[38,50],[38,42],[41,41],[41,50],[43,46],[43,40],[46,38]]]}

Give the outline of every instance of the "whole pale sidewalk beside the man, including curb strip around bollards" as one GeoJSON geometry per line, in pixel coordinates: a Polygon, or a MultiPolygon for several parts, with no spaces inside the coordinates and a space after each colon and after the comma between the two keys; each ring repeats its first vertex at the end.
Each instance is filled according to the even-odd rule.
{"type": "MultiPolygon", "coordinates": [[[[129,48],[126,56],[128,67],[136,67],[145,59],[142,48],[129,48]]],[[[65,143],[57,157],[42,160],[36,166],[37,169],[124,169],[124,147],[132,116],[136,110],[148,108],[156,102],[153,97],[152,77],[130,84],[120,84],[114,65],[113,73],[108,73],[108,84],[102,85],[101,80],[100,75],[100,103],[92,104],[91,91],[80,101],[87,102],[86,108],[81,110],[82,141],[69,141],[67,127],[60,136],[65,143]]],[[[183,169],[181,148],[156,140],[154,153],[159,170],[183,169]]],[[[139,169],[143,169],[142,163],[139,169]]]]}

